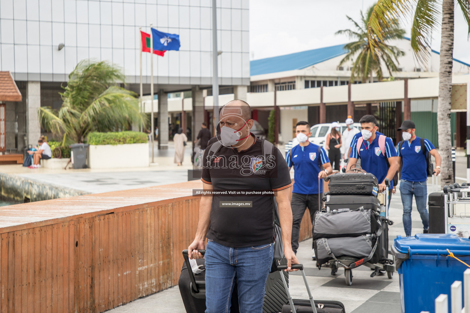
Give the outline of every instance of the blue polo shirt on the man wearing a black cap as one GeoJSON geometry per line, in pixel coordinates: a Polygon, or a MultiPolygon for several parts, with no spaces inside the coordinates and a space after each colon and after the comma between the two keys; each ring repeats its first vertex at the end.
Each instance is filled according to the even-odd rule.
{"type": "MultiPolygon", "coordinates": [[[[400,141],[401,142],[401,141],[400,141]]],[[[431,141],[424,139],[424,146],[426,147],[426,154],[421,151],[421,138],[415,137],[410,143],[406,141],[401,146],[399,151],[400,142],[397,145],[397,154],[403,161],[401,169],[401,179],[410,182],[424,182],[428,178],[428,171],[426,169],[426,158],[432,149],[436,149],[431,141]]]]}

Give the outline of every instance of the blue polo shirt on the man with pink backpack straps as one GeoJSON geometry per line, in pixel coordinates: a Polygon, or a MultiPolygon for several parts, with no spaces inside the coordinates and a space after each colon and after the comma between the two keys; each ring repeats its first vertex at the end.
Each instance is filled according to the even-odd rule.
{"type": "MultiPolygon", "coordinates": [[[[357,140],[356,140],[357,141],[357,140]]],[[[360,166],[368,173],[377,177],[379,183],[382,183],[387,176],[387,159],[397,156],[392,138],[385,138],[385,155],[382,154],[379,147],[379,136],[376,133],[375,139],[369,144],[364,140],[360,146],[360,154],[357,153],[356,145],[351,149],[350,158],[360,159],[360,166]]],[[[393,181],[390,180],[390,189],[393,188],[393,181]]]]}

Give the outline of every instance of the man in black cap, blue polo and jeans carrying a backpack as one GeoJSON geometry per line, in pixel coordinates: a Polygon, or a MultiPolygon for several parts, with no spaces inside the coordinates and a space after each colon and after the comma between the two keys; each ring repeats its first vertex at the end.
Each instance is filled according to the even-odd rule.
{"type": "Polygon", "coordinates": [[[423,222],[423,233],[429,232],[429,215],[426,209],[428,196],[426,179],[433,173],[431,155],[436,159],[436,175],[440,173],[441,157],[428,139],[416,137],[415,123],[403,121],[398,130],[402,130],[403,141],[397,145],[399,163],[402,163],[400,176],[400,195],[403,203],[403,227],[407,237],[411,236],[411,210],[413,195],[416,207],[423,222]],[[402,162],[400,162],[402,161],[402,162]]]}

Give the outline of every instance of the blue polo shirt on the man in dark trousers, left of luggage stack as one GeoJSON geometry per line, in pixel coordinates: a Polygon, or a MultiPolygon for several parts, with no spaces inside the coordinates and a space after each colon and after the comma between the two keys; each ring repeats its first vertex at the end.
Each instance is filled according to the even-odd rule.
{"type": "MultiPolygon", "coordinates": [[[[292,160],[290,159],[289,152],[286,153],[287,165],[294,166],[294,187],[292,192],[304,195],[318,194],[318,173],[323,170],[318,165],[318,158],[320,157],[321,164],[329,163],[328,156],[323,149],[320,148],[321,155],[318,155],[318,145],[311,142],[302,147],[296,145],[292,148],[292,160]]],[[[323,192],[323,186],[320,186],[323,192]]]]}

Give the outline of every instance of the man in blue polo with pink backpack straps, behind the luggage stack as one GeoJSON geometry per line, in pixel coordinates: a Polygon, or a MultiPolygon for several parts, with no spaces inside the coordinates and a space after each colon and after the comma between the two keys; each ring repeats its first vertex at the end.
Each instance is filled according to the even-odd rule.
{"type": "MultiPolygon", "coordinates": [[[[364,115],[360,119],[362,144],[357,149],[357,142],[351,149],[349,162],[346,169],[356,164],[361,159],[361,168],[368,173],[374,174],[379,182],[379,192],[385,190],[385,178],[390,181],[390,189],[393,188],[393,176],[398,170],[398,157],[393,141],[385,137],[384,146],[379,144],[380,135],[377,135],[377,121],[373,115],[364,115]],[[387,164],[390,164],[390,167],[387,164]]],[[[392,193],[389,193],[389,197],[392,193]]],[[[390,200],[390,198],[389,198],[390,200]]]]}

